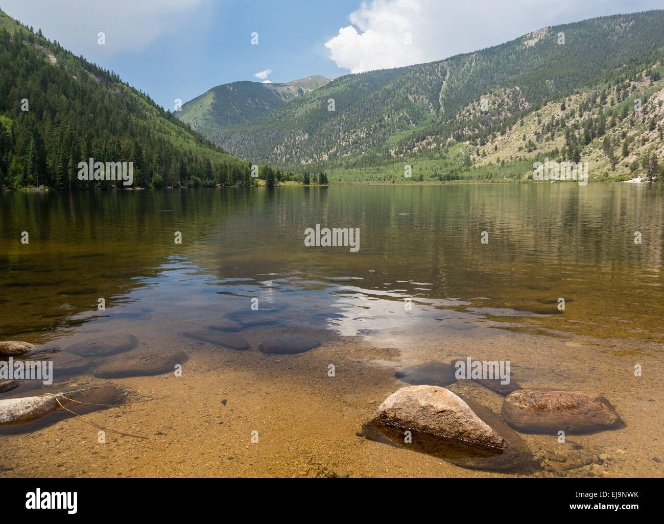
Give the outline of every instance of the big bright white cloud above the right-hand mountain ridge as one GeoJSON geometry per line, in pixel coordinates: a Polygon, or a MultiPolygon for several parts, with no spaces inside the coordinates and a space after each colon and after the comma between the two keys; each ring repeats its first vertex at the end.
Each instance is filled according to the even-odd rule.
{"type": "Polygon", "coordinates": [[[351,25],[325,47],[337,66],[354,73],[393,68],[493,46],[548,25],[661,9],[658,1],[372,0],[351,13],[351,25]]]}

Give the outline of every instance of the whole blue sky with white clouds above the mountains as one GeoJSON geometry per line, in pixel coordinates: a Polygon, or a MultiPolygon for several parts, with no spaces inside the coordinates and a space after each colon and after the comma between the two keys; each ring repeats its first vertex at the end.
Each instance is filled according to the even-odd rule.
{"type": "Polygon", "coordinates": [[[3,11],[173,109],[218,84],[447,58],[661,0],[3,0],[3,11]],[[98,44],[98,33],[106,44],[98,44]],[[258,33],[258,45],[251,35],[258,33]],[[410,43],[404,46],[404,36],[410,43]],[[271,70],[267,76],[254,76],[271,70]]]}

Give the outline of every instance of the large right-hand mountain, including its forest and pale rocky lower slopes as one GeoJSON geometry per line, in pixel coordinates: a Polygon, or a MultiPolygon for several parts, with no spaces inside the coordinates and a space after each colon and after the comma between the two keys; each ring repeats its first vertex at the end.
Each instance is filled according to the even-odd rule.
{"type": "MultiPolygon", "coordinates": [[[[632,120],[636,125],[645,113],[623,116],[623,109],[635,94],[647,103],[653,92],[646,91],[660,86],[663,49],[664,11],[599,17],[438,62],[341,76],[250,125],[212,119],[201,131],[240,157],[339,177],[380,177],[369,172],[388,167],[402,177],[404,164],[419,163],[424,179],[449,179],[491,158],[501,165],[520,161],[523,175],[523,166],[547,145],[559,155],[564,144],[582,154],[603,151],[608,128],[600,120],[618,126],[614,116],[623,117],[620,124],[626,118],[626,127],[632,120]],[[553,115],[552,107],[559,110],[564,100],[570,110],[553,115]],[[531,121],[529,133],[521,132],[522,122],[531,121]],[[508,135],[513,142],[501,154],[508,135]]],[[[620,134],[622,152],[622,141],[633,133],[620,134]]],[[[641,148],[638,137],[628,145],[630,156],[637,143],[641,148]]]]}

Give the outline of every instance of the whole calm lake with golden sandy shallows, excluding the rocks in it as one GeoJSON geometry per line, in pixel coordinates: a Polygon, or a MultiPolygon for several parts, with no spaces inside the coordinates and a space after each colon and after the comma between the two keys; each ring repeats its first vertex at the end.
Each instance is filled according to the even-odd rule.
{"type": "MultiPolygon", "coordinates": [[[[121,387],[122,406],[85,418],[146,438],[109,432],[101,450],[98,428],[69,418],[2,436],[0,475],[467,476],[362,438],[406,385],[395,371],[455,357],[509,360],[522,387],[602,393],[625,422],[567,437],[604,457],[597,468],[510,475],[664,473],[661,185],[21,192],[0,204],[0,339],[48,357],[122,333],[188,358],[181,377],[56,376],[43,391],[121,387]],[[317,225],[358,230],[357,250],[305,245],[317,225]],[[183,336],[256,305],[274,321],[242,329],[248,350],[183,336]],[[321,345],[257,351],[281,335],[321,345]]],[[[21,389],[3,396],[40,391],[21,389]]],[[[503,397],[477,383],[450,389],[500,413],[503,397]]],[[[536,462],[562,446],[523,438],[536,462]]]]}

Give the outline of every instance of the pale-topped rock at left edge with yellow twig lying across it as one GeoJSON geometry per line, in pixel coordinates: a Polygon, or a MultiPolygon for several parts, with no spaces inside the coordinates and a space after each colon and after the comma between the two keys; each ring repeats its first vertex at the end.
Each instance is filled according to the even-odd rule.
{"type": "Polygon", "coordinates": [[[40,396],[7,398],[0,400],[0,426],[25,424],[58,410],[64,412],[63,414],[68,413],[60,404],[78,414],[101,409],[104,406],[99,404],[113,404],[117,400],[118,389],[114,386],[94,386],[40,396]]]}

